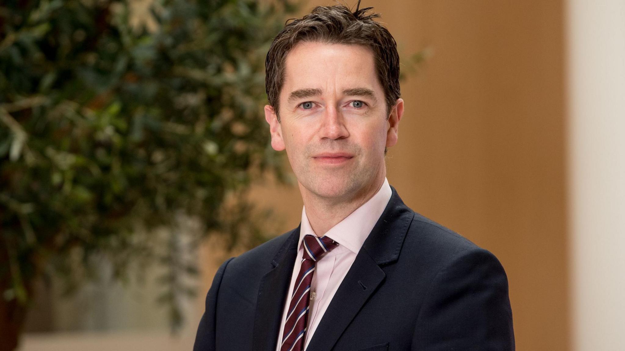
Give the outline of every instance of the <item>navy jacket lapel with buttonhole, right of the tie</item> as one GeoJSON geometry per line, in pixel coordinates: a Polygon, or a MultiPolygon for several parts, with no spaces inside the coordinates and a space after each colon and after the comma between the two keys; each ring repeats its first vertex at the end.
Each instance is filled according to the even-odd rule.
{"type": "Polygon", "coordinates": [[[369,297],[383,284],[386,274],[379,265],[389,264],[399,257],[414,212],[402,202],[396,190],[391,189],[386,209],[362,244],[306,350],[331,350],[369,297]]]}

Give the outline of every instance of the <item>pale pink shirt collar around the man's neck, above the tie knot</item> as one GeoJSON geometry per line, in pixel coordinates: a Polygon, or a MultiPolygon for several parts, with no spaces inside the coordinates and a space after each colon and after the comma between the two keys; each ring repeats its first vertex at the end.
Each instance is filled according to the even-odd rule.
{"type": "MultiPolygon", "coordinates": [[[[337,223],[326,235],[330,239],[338,242],[340,245],[357,254],[364,240],[367,239],[369,233],[376,225],[377,220],[384,212],[386,205],[391,199],[392,190],[386,177],[384,183],[377,190],[376,194],[358,207],[354,212],[345,217],[341,222],[337,223]]],[[[299,242],[297,247],[301,247],[304,235],[316,235],[312,230],[311,224],[306,216],[306,207],[302,209],[302,222],[299,230],[299,242]]]]}

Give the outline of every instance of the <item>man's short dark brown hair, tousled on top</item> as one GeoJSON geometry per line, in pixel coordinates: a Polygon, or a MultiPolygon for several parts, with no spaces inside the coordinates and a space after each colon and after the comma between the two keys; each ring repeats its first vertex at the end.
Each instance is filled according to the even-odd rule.
{"type": "Polygon", "coordinates": [[[305,41],[369,47],[373,52],[377,79],[384,91],[387,114],[391,111],[400,96],[397,43],[386,27],[373,20],[380,15],[369,13],[372,8],[352,12],[343,5],[317,6],[311,13],[284,26],[271,43],[265,59],[265,89],[276,115],[284,85],[286,56],[299,42],[305,41]]]}

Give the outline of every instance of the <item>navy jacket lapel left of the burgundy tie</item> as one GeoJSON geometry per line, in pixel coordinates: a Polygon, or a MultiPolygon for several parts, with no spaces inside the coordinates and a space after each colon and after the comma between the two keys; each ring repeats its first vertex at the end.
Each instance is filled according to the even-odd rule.
{"type": "Polygon", "coordinates": [[[252,345],[254,350],[276,350],[277,334],[280,330],[284,299],[291,282],[293,265],[297,256],[299,227],[293,230],[289,239],[278,250],[271,264],[273,268],[261,279],[254,314],[252,345]]]}

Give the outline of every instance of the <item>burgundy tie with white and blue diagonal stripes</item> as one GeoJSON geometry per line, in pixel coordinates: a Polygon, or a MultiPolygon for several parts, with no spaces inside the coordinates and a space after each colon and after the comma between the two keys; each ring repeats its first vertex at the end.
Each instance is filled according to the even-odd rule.
{"type": "Polygon", "coordinates": [[[308,302],[311,293],[312,274],[314,262],[321,259],[329,250],[339,245],[329,237],[304,236],[304,256],[302,267],[299,269],[297,279],[291,295],[289,312],[286,315],[284,333],[282,334],[282,346],[280,351],[304,350],[306,339],[306,325],[308,324],[308,302]]]}

